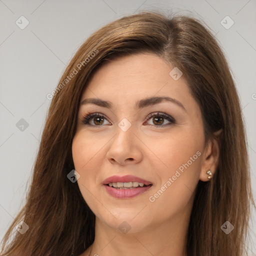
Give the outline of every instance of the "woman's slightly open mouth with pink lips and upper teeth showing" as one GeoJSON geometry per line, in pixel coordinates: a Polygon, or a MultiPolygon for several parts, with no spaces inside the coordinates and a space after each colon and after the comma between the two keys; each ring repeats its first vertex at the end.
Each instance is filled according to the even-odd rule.
{"type": "Polygon", "coordinates": [[[132,176],[111,176],[103,181],[106,191],[116,198],[131,198],[147,191],[152,183],[132,176]]]}

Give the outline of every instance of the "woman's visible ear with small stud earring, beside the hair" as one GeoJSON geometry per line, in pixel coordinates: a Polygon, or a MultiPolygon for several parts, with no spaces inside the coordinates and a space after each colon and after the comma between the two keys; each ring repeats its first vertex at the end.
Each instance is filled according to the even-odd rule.
{"type": "Polygon", "coordinates": [[[219,141],[220,141],[220,134],[222,129],[214,132],[213,136],[208,139],[207,144],[204,148],[204,152],[202,154],[202,165],[200,170],[199,179],[201,181],[208,181],[208,174],[206,173],[207,170],[210,170],[212,176],[214,175],[219,160],[219,141]]]}

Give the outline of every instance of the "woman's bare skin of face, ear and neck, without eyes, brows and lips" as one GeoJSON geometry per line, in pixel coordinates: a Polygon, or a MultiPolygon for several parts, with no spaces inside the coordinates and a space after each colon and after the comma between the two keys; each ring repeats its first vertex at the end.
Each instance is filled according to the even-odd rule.
{"type": "MultiPolygon", "coordinates": [[[[93,97],[111,101],[108,109],[95,104],[79,107],[77,130],[72,142],[77,183],[84,200],[96,216],[95,240],[81,255],[186,255],[185,244],[189,216],[198,180],[208,181],[206,171],[214,174],[219,148],[217,141],[205,143],[201,112],[181,76],[174,80],[172,66],[160,57],[140,53],[122,56],[98,69],[81,95],[81,101],[93,97]],[[162,101],[135,109],[137,100],[151,96],[169,96],[179,105],[162,101]],[[89,126],[82,123],[87,112],[89,126]],[[153,112],[166,113],[158,124],[153,112]],[[123,131],[118,123],[126,118],[131,126],[123,131]],[[99,124],[102,121],[102,124],[99,124]],[[170,124],[170,125],[168,125],[170,124]],[[161,127],[159,127],[162,125],[161,127]],[[176,170],[200,152],[183,173],[153,202],[149,196],[166,184],[176,170]],[[152,182],[152,187],[132,198],[115,198],[106,192],[102,181],[111,176],[131,174],[152,182]],[[124,234],[118,226],[130,226],[124,234]]],[[[158,116],[159,117],[159,116],[158,116]]],[[[165,185],[166,186],[166,185],[165,185]]]]}

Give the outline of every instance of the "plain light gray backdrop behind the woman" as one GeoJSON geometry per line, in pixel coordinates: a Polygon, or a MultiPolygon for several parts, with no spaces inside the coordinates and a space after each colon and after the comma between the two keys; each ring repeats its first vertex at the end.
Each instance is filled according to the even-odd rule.
{"type": "MultiPolygon", "coordinates": [[[[0,239],[25,201],[50,103],[46,94],[92,32],[142,9],[189,10],[216,34],[241,100],[256,199],[256,0],[0,0],[0,239]],[[29,21],[24,29],[15,23],[21,15],[29,21]],[[234,21],[229,29],[220,23],[226,15],[234,21]],[[28,123],[23,130],[16,126],[21,118],[28,123]]],[[[255,220],[253,211],[249,255],[256,255],[255,220]]]]}

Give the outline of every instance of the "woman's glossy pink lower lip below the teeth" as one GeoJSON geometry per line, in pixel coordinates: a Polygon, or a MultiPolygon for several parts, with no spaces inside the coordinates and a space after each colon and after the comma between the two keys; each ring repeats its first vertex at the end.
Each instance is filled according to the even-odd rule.
{"type": "Polygon", "coordinates": [[[131,198],[136,195],[139,195],[145,191],[147,191],[152,185],[142,186],[142,187],[135,187],[135,188],[128,188],[128,189],[118,189],[113,188],[112,186],[104,185],[106,191],[116,198],[131,198]]]}

